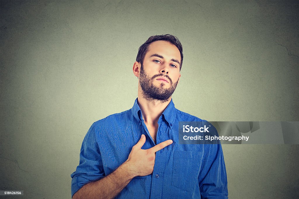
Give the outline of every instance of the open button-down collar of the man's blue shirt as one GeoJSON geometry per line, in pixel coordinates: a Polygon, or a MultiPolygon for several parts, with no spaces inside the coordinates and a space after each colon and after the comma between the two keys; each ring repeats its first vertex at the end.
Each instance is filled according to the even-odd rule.
{"type": "MultiPolygon", "coordinates": [[[[136,98],[136,100],[134,102],[134,105],[133,105],[131,110],[132,110],[133,116],[136,118],[136,120],[141,125],[141,117],[142,117],[141,116],[141,109],[138,105],[137,99],[138,98],[136,98]]],[[[175,120],[175,117],[176,117],[176,108],[174,107],[174,103],[173,103],[172,99],[170,100],[169,104],[167,105],[167,107],[163,111],[162,115],[164,116],[165,120],[169,123],[170,128],[171,128],[173,126],[173,123],[174,123],[174,120],[175,120]]]]}

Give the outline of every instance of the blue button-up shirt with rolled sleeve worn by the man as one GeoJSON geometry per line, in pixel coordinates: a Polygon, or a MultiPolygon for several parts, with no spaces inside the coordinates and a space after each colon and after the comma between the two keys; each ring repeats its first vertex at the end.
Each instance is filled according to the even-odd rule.
{"type": "MultiPolygon", "coordinates": [[[[228,198],[220,144],[179,144],[179,121],[205,121],[179,111],[171,100],[158,120],[156,143],[173,143],[156,152],[153,173],[134,177],[116,198],[228,198]]],[[[80,163],[71,174],[73,197],[83,185],[100,180],[125,162],[140,140],[155,146],[137,99],[127,111],[94,122],[84,137],[80,163]]]]}

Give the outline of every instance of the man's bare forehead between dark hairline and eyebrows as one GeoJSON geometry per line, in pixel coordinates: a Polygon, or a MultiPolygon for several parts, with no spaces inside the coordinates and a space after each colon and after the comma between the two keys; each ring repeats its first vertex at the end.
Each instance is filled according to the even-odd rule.
{"type": "Polygon", "coordinates": [[[167,41],[152,42],[149,45],[145,57],[149,57],[152,54],[161,55],[165,59],[177,59],[181,62],[181,54],[179,49],[175,45],[167,41]]]}

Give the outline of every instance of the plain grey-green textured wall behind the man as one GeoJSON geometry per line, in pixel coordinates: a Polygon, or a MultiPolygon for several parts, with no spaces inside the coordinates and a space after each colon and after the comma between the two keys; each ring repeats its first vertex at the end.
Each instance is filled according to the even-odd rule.
{"type": "MultiPolygon", "coordinates": [[[[173,94],[181,111],[298,121],[299,1],[0,4],[0,190],[71,198],[83,138],[94,121],[132,107],[132,66],[151,35],[183,45],[173,94]]],[[[298,145],[222,147],[230,198],[298,197],[298,145]]]]}

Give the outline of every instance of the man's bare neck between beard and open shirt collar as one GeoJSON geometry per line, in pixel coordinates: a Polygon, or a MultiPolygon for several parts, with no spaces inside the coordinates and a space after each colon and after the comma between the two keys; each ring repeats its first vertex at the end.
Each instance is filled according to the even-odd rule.
{"type": "Polygon", "coordinates": [[[145,123],[155,125],[159,117],[171,101],[171,97],[167,101],[147,100],[143,97],[141,88],[138,88],[138,105],[141,109],[142,117],[145,123]]]}

